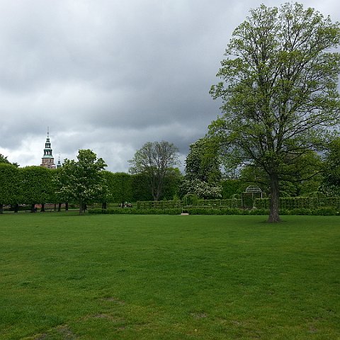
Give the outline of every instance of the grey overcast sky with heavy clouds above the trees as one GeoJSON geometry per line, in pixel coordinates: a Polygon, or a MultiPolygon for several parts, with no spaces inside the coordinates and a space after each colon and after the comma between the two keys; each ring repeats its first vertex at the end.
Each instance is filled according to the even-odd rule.
{"type": "MultiPolygon", "coordinates": [[[[0,153],[39,165],[92,149],[128,171],[145,142],[203,137],[225,47],[254,0],[0,0],[0,153]]],[[[338,0],[298,1],[340,21],[338,0]]]]}

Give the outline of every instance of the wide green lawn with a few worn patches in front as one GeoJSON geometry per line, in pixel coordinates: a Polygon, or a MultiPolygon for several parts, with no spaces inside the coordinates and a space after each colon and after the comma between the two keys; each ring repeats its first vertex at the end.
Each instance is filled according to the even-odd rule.
{"type": "Polygon", "coordinates": [[[339,217],[0,216],[0,339],[340,339],[339,217]]]}

